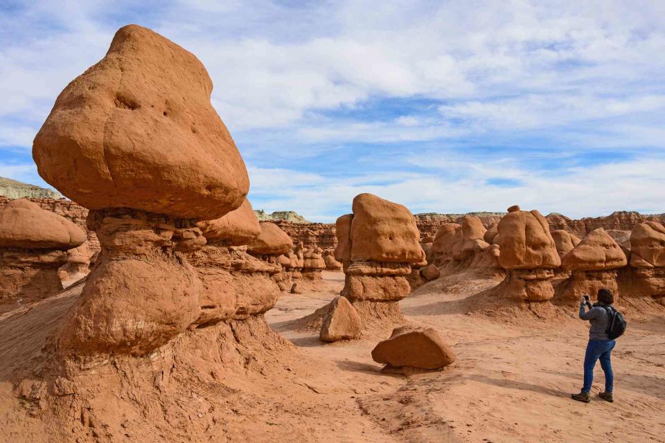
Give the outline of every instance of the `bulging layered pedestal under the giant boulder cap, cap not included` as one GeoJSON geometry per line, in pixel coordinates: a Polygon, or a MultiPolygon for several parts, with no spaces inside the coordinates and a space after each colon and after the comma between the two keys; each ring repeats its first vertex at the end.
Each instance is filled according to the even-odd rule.
{"type": "Polygon", "coordinates": [[[91,210],[88,226],[102,250],[62,348],[145,354],[194,323],[202,284],[185,252],[205,242],[194,223],[138,210],[91,210]]]}

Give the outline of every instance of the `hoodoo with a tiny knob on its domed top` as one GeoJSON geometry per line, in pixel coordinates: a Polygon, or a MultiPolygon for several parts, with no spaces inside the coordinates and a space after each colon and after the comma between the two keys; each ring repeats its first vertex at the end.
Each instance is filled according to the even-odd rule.
{"type": "Polygon", "coordinates": [[[507,271],[499,295],[529,302],[551,299],[553,269],[561,265],[561,259],[545,217],[515,205],[508,208],[497,228],[499,264],[507,271]]]}

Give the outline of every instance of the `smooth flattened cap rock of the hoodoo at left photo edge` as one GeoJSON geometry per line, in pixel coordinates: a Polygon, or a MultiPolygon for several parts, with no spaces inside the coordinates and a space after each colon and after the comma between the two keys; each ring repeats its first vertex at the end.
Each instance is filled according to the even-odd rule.
{"type": "Polygon", "coordinates": [[[0,248],[66,251],[86,238],[71,221],[28,199],[12,200],[0,210],[0,248]]]}

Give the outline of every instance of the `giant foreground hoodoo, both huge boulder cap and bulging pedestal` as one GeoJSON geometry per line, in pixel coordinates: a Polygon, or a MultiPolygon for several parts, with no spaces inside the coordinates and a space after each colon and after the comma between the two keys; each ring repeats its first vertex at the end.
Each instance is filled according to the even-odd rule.
{"type": "Polygon", "coordinates": [[[202,285],[182,255],[197,221],[238,208],[245,164],[199,60],[141,26],[60,93],[33,144],[39,174],[90,210],[101,253],[60,350],[145,354],[192,325],[202,285]]]}

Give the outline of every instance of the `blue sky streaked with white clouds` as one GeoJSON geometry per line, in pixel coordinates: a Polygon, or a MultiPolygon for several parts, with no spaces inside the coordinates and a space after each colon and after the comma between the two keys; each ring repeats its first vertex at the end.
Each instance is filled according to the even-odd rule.
{"type": "Polygon", "coordinates": [[[0,176],[46,184],[55,97],[136,23],[208,69],[256,209],[665,212],[663,1],[137,4],[1,3],[0,176]]]}

